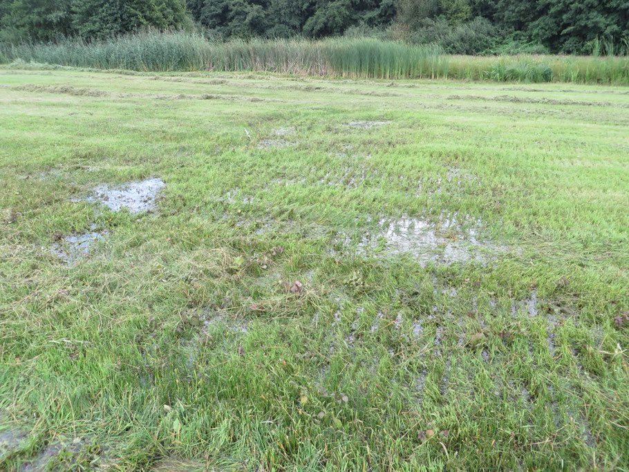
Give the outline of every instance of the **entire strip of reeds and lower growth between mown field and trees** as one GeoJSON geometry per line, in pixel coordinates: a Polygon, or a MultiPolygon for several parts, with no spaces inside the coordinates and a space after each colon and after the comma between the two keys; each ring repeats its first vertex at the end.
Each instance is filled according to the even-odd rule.
{"type": "MultiPolygon", "coordinates": [[[[186,32],[141,32],[86,43],[0,44],[4,61],[136,71],[258,71],[379,79],[629,84],[629,57],[445,55],[438,46],[377,39],[209,41],[186,32]]],[[[0,61],[1,62],[1,61],[0,61]]]]}

